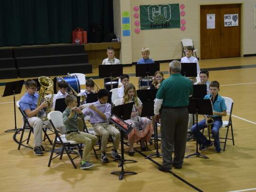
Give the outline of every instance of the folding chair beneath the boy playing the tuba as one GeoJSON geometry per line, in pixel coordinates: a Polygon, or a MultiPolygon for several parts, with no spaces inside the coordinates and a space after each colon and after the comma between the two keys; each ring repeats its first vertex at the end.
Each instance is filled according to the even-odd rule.
{"type": "MultiPolygon", "coordinates": [[[[28,144],[31,133],[34,133],[33,127],[31,127],[31,126],[29,125],[28,120],[27,120],[27,117],[25,116],[24,111],[23,111],[23,110],[20,108],[20,106],[19,106],[19,102],[20,102],[20,100],[18,100],[18,101],[16,102],[16,106],[18,107],[18,109],[19,109],[19,111],[20,111],[20,113],[21,113],[21,115],[22,115],[22,117],[23,117],[23,122],[24,122],[24,124],[23,124],[23,127],[22,127],[22,131],[21,131],[21,135],[20,135],[20,140],[19,140],[19,142],[18,142],[18,150],[20,149],[20,146],[22,145],[23,142],[27,141],[27,144],[28,144]],[[24,141],[22,141],[23,135],[24,135],[24,132],[25,132],[26,129],[29,130],[29,133],[28,133],[27,139],[25,139],[24,141]]],[[[52,145],[53,143],[51,142],[51,140],[50,140],[48,134],[46,133],[46,130],[47,130],[46,125],[43,126],[43,129],[42,129],[42,130],[43,130],[43,132],[44,132],[44,134],[45,134],[45,137],[47,138],[47,140],[48,140],[48,141],[50,142],[50,144],[52,145]]],[[[42,148],[42,150],[45,150],[43,146],[41,146],[41,148],[42,148]]]]}

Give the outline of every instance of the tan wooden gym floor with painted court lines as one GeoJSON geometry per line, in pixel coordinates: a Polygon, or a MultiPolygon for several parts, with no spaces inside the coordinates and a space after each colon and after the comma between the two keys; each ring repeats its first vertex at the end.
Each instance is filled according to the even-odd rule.
{"type": "MultiPolygon", "coordinates": [[[[210,71],[210,81],[217,80],[220,83],[221,96],[234,100],[233,128],[235,145],[227,142],[226,150],[216,153],[210,147],[200,151],[210,159],[192,157],[184,159],[182,169],[174,169],[172,173],[158,171],[158,165],[162,158],[153,157],[144,159],[145,156],[155,153],[154,146],[148,145],[146,152],[137,152],[134,157],[125,154],[125,159],[137,160],[137,163],[126,162],[125,171],[137,172],[137,175],[124,175],[119,181],[119,175],[111,175],[112,171],[120,171],[118,162],[104,164],[100,159],[91,155],[91,163],[94,167],[81,170],[79,158],[74,162],[78,166],[74,169],[71,162],[64,155],[63,160],[54,159],[51,167],[47,167],[50,153],[44,152],[44,156],[36,156],[33,150],[21,147],[14,142],[14,132],[5,133],[5,130],[13,129],[14,107],[13,97],[0,98],[0,191],[4,192],[43,192],[43,191],[69,191],[69,192],[230,192],[236,190],[256,191],[256,57],[248,58],[222,58],[200,60],[200,68],[210,71]]],[[[160,65],[160,70],[168,77],[168,63],[160,65]]],[[[124,73],[130,75],[130,83],[138,84],[135,77],[135,66],[124,67],[124,73]]],[[[103,87],[103,80],[97,78],[98,68],[93,69],[92,74],[86,74],[95,78],[95,82],[103,87]]],[[[27,78],[26,78],[27,79],[27,78]]],[[[25,80],[26,80],[25,79],[25,80]]],[[[0,93],[4,92],[6,82],[19,79],[0,80],[0,93]]],[[[82,87],[84,89],[85,87],[82,87]]],[[[16,95],[16,101],[25,93],[16,95]]],[[[18,110],[18,109],[17,109],[18,110]]],[[[23,125],[22,118],[17,113],[17,127],[23,125]]],[[[224,117],[224,120],[229,116],[224,117]]],[[[226,129],[220,130],[220,135],[225,134],[226,129]]],[[[26,133],[27,135],[27,133],[26,133]]],[[[229,133],[230,135],[230,133],[229,133]]],[[[19,139],[20,134],[16,135],[19,139]]],[[[53,139],[53,137],[51,137],[53,139]]],[[[160,144],[160,142],[159,142],[160,144]]],[[[48,142],[43,142],[47,151],[51,150],[48,142]]],[[[33,146],[33,136],[28,146],[33,146]]],[[[223,143],[221,144],[223,148],[223,143]]],[[[139,145],[135,144],[139,151],[139,145]]],[[[97,147],[96,147],[97,149],[97,147]]],[[[110,149],[108,154],[110,154],[110,149]]],[[[186,155],[195,152],[195,141],[187,142],[186,155]]],[[[125,146],[126,152],[128,147],[125,146]]],[[[120,149],[119,149],[120,152],[120,149]]],[[[161,151],[160,151],[161,152],[161,151]]],[[[100,151],[98,151],[100,153],[100,151]]],[[[110,155],[109,155],[110,157],[110,155]]]]}

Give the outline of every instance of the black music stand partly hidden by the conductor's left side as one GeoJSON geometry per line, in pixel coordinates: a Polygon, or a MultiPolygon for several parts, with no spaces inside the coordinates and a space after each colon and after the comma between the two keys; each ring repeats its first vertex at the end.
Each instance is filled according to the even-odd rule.
{"type": "MultiPolygon", "coordinates": [[[[143,103],[142,111],[141,111],[141,117],[150,117],[154,116],[154,101],[149,101],[143,103]]],[[[152,156],[163,156],[161,153],[158,151],[158,133],[157,133],[157,123],[155,122],[154,124],[154,141],[155,141],[155,149],[156,152],[152,155],[147,156],[145,159],[150,158],[152,156]]]]}

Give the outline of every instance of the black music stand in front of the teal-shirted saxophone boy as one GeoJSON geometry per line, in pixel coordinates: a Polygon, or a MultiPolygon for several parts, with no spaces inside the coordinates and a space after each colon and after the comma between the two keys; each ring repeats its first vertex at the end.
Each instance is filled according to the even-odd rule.
{"type": "MultiPolygon", "coordinates": [[[[198,114],[213,115],[211,100],[189,99],[189,105],[188,105],[187,108],[188,108],[188,112],[190,114],[196,114],[196,132],[198,132],[198,114]]],[[[198,139],[197,139],[197,137],[196,137],[196,152],[191,154],[191,155],[187,155],[185,158],[189,158],[189,157],[192,157],[192,156],[197,156],[197,157],[201,156],[205,159],[209,159],[207,156],[202,155],[198,151],[198,139]]]]}

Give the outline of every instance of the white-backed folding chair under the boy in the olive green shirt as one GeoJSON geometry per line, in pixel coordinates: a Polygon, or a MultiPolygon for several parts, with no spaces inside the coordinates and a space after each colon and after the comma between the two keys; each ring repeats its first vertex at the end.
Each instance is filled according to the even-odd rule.
{"type": "Polygon", "coordinates": [[[52,125],[52,127],[54,129],[54,132],[55,132],[55,139],[54,139],[53,149],[51,151],[48,167],[50,167],[52,159],[55,159],[58,156],[60,156],[60,159],[62,159],[62,156],[63,156],[64,151],[65,151],[65,153],[67,154],[68,158],[70,159],[73,167],[77,168],[76,165],[74,164],[73,159],[79,157],[79,155],[78,155],[77,152],[75,152],[73,150],[70,150],[69,147],[70,147],[70,144],[77,144],[77,147],[79,148],[79,150],[82,150],[82,149],[81,149],[81,146],[79,145],[79,143],[77,143],[75,141],[68,141],[68,140],[66,140],[64,134],[63,135],[59,135],[59,133],[57,131],[57,128],[64,126],[62,112],[60,112],[60,111],[52,111],[52,112],[50,112],[48,114],[47,117],[48,117],[48,119],[49,119],[49,121],[50,121],[50,123],[51,123],[51,125],[52,125]],[[53,153],[55,152],[54,150],[55,150],[56,143],[62,145],[62,150],[61,150],[61,152],[57,152],[56,156],[53,158],[53,153]],[[70,154],[75,154],[77,156],[72,159],[70,154]]]}

